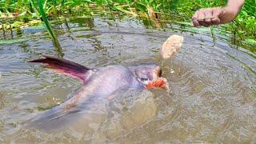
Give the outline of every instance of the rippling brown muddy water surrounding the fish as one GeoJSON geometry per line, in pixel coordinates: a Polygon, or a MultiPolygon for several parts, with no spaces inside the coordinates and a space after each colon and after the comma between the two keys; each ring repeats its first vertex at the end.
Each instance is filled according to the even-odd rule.
{"type": "MultiPolygon", "coordinates": [[[[42,27],[1,34],[17,42],[0,46],[0,142],[170,143],[256,142],[256,56],[210,29],[123,18],[70,18],[54,26],[62,50],[42,27]],[[162,60],[171,34],[182,49],[162,60]],[[30,58],[64,55],[88,67],[156,62],[170,90],[127,92],[79,117],[65,130],[24,129],[28,119],[63,102],[80,83],[54,74],[30,58]]],[[[233,42],[234,43],[234,42],[233,42]]]]}

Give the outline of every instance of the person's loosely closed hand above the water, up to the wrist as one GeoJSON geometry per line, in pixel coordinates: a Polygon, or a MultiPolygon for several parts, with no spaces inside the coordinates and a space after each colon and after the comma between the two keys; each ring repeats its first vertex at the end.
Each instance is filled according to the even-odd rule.
{"type": "Polygon", "coordinates": [[[214,7],[196,11],[192,17],[192,22],[194,26],[214,26],[231,22],[235,16],[234,10],[229,7],[214,7]]]}

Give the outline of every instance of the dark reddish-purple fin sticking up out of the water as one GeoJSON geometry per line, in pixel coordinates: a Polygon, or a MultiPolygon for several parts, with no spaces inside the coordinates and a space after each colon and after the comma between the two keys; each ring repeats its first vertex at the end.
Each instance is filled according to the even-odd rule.
{"type": "Polygon", "coordinates": [[[88,76],[88,74],[86,73],[88,72],[88,70],[90,70],[86,66],[82,66],[78,63],[47,54],[42,55],[42,58],[30,60],[29,62],[45,63],[46,68],[54,70],[54,72],[57,73],[66,74],[70,77],[78,78],[82,80],[82,82],[86,81],[88,76]]]}

